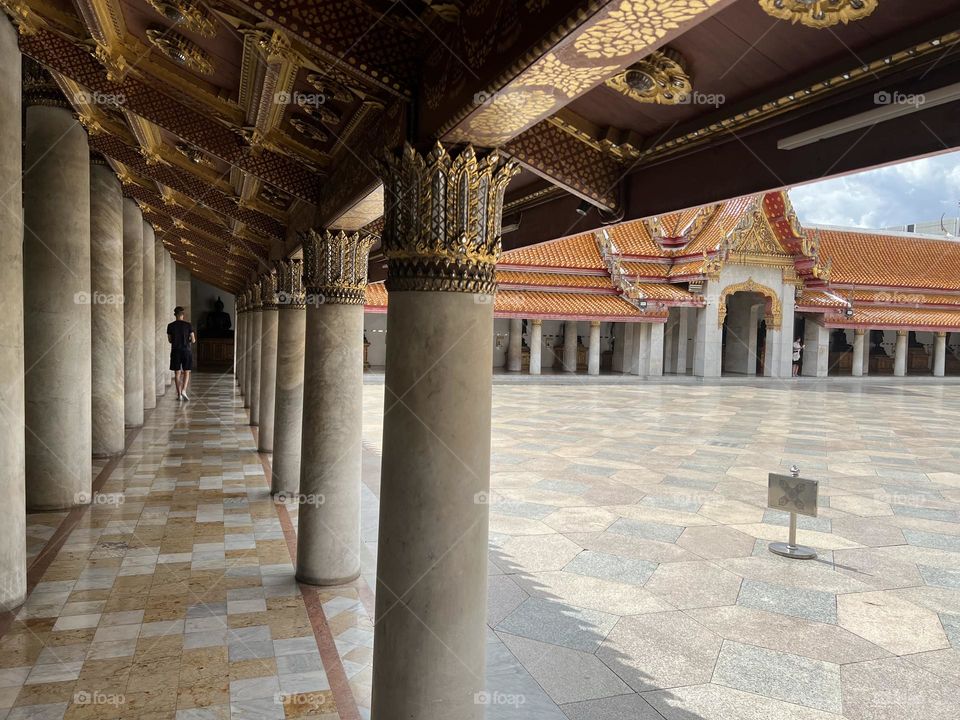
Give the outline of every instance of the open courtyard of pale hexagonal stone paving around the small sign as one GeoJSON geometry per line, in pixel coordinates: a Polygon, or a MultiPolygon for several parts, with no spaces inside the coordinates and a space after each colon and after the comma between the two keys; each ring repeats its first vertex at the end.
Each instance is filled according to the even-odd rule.
{"type": "MultiPolygon", "coordinates": [[[[382,386],[367,389],[375,447],[382,386]]],[[[960,386],[493,397],[491,716],[960,715],[960,386]],[[814,561],[767,550],[787,535],[767,474],[794,463],[820,481],[798,533],[814,561]]]]}

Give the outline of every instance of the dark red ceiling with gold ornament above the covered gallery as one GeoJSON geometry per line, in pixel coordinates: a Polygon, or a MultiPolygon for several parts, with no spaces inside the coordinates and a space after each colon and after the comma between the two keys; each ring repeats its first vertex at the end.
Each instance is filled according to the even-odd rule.
{"type": "Polygon", "coordinates": [[[517,158],[511,247],[960,145],[927,115],[894,143],[768,148],[944,84],[960,0],[837,0],[822,21],[800,0],[788,19],[767,0],[0,5],[177,262],[230,292],[307,228],[376,232],[373,158],[404,140],[517,158]]]}

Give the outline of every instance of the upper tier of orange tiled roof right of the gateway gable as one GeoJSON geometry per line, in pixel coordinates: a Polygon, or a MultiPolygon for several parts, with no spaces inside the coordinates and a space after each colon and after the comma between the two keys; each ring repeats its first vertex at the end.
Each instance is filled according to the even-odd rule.
{"type": "Polygon", "coordinates": [[[960,242],[819,228],[835,284],[960,290],[960,242]]]}

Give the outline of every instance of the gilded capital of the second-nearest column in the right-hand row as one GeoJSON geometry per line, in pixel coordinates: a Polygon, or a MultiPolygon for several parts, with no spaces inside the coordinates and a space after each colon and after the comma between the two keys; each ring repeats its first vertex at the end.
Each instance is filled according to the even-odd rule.
{"type": "MultiPolygon", "coordinates": [[[[363,305],[367,259],[375,238],[343,230],[309,230],[303,238],[303,284],[315,302],[363,305]]],[[[307,301],[308,303],[311,300],[307,301]]]]}

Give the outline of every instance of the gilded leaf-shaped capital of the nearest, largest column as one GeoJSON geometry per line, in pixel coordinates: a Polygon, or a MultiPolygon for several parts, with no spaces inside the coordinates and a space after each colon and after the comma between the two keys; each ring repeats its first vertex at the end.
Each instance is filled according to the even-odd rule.
{"type": "Polygon", "coordinates": [[[387,289],[494,292],[503,195],[517,163],[437,143],[427,155],[404,145],[379,167],[387,289]]]}

